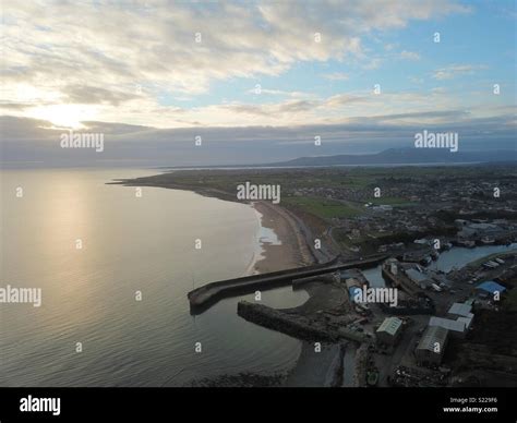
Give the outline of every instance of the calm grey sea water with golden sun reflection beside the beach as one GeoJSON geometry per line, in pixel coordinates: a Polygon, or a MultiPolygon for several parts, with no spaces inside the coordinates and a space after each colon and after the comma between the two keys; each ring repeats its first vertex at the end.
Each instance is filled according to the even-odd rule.
{"type": "MultiPolygon", "coordinates": [[[[106,184],[153,173],[0,172],[0,286],[43,290],[40,307],[0,305],[0,386],[183,385],[296,362],[300,342],[238,317],[240,299],[189,313],[193,287],[252,271],[260,238],[274,238],[257,213],[191,192],[144,188],[139,198],[134,188],[106,184]]],[[[263,293],[278,307],[305,300],[290,288],[263,293]]]]}

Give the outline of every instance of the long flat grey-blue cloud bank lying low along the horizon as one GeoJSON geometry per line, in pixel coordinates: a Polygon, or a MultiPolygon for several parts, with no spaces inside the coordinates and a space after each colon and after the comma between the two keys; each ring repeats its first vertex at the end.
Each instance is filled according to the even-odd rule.
{"type": "MultiPolygon", "coordinates": [[[[464,110],[428,110],[419,113],[358,117],[338,124],[248,128],[156,129],[109,122],[87,122],[89,131],[105,133],[101,156],[89,150],[63,150],[61,131],[50,122],[1,117],[3,129],[0,166],[25,161],[46,166],[214,166],[264,164],[301,156],[375,153],[390,147],[411,146],[414,133],[458,132],[461,149],[515,149],[516,108],[505,114],[473,118],[464,110]],[[432,123],[432,122],[435,123],[432,123]],[[194,146],[202,136],[203,147],[194,146]],[[314,136],[322,146],[314,146],[314,136]],[[99,160],[96,162],[95,160],[99,160]]],[[[124,177],[124,174],[121,174],[124,177]]]]}

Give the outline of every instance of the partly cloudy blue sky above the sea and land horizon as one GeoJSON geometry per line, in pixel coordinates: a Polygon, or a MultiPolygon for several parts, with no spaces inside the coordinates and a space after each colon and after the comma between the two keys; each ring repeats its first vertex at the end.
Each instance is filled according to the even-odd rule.
{"type": "Polygon", "coordinates": [[[2,161],[63,129],[101,131],[113,160],[166,143],[188,165],[375,152],[419,129],[512,148],[516,22],[506,0],[4,0],[2,161]],[[181,145],[196,134],[223,150],[181,145]]]}

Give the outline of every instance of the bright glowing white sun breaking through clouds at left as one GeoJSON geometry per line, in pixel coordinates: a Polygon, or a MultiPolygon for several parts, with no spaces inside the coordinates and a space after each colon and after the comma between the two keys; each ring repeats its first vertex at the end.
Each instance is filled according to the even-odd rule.
{"type": "Polygon", "coordinates": [[[80,129],[84,126],[81,122],[93,119],[95,110],[84,105],[51,105],[38,107],[32,114],[36,119],[51,122],[55,126],[80,129]]]}

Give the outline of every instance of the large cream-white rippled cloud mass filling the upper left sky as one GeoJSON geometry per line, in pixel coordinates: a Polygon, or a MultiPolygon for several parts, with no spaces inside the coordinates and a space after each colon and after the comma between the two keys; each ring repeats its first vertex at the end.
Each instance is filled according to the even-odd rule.
{"type": "MultiPolygon", "coordinates": [[[[275,77],[302,62],[357,60],[363,69],[375,69],[380,59],[363,48],[373,32],[467,10],[446,0],[173,7],[167,1],[60,1],[51,3],[51,12],[40,2],[7,0],[2,8],[5,104],[27,104],[32,107],[19,111],[31,116],[35,108],[37,116],[48,117],[51,111],[41,110],[46,105],[70,102],[87,106],[88,118],[146,124],[169,123],[166,108],[159,117],[144,114],[159,108],[164,94],[192,98],[208,94],[217,82],[275,77]]],[[[335,81],[345,77],[329,74],[335,81]]],[[[303,98],[294,93],[277,94],[303,98]]]]}

